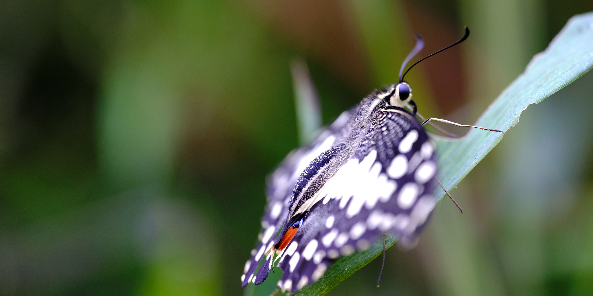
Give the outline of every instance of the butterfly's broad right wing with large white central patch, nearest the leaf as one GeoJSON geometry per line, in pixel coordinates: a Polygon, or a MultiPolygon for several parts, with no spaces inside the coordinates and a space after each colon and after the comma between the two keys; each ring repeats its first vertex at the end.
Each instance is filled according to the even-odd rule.
{"type": "MultiPolygon", "coordinates": [[[[339,168],[320,169],[318,175],[330,178],[309,186],[314,194],[289,212],[304,217],[279,259],[285,291],[317,281],[332,259],[368,248],[384,231],[413,242],[435,205],[434,144],[412,115],[377,110],[361,134],[348,159],[337,156],[339,168]]],[[[348,150],[345,144],[343,153],[348,150]]]]}

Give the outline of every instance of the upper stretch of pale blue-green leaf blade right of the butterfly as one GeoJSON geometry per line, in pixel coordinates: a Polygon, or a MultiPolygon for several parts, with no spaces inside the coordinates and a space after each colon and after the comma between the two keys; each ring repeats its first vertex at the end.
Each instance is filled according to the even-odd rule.
{"type": "MultiPolygon", "coordinates": [[[[544,52],[536,54],[480,116],[476,126],[507,131],[531,104],[559,91],[593,67],[593,14],[571,18],[544,52]]],[[[436,139],[439,177],[452,189],[502,140],[501,133],[473,129],[460,140],[436,139]]],[[[441,195],[439,200],[444,197],[441,195]]]]}

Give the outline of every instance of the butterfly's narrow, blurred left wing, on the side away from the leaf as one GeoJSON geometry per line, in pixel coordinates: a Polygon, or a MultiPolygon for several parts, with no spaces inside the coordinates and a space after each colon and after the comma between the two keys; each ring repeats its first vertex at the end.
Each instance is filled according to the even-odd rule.
{"type": "Polygon", "coordinates": [[[256,247],[251,250],[251,258],[245,263],[241,275],[243,286],[253,281],[257,265],[264,252],[270,249],[267,244],[273,242],[282,228],[288,216],[289,198],[299,175],[318,155],[329,150],[336,141],[349,133],[348,121],[352,118],[352,112],[343,112],[332,124],[318,131],[310,144],[289,153],[267,179],[267,205],[262,217],[263,231],[258,236],[256,247]]]}

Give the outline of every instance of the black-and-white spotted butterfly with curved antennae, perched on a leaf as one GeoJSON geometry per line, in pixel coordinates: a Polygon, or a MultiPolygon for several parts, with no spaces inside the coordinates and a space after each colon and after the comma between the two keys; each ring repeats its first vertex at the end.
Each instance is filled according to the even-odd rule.
{"type": "MultiPolygon", "coordinates": [[[[442,50],[468,35],[466,27],[463,38],[442,50]]],[[[334,259],[368,249],[385,232],[414,245],[436,204],[438,162],[423,128],[435,118],[416,119],[412,88],[403,78],[442,52],[402,75],[423,47],[422,37],[416,40],[397,83],[343,112],[270,175],[263,231],[244,266],[243,286],[261,284],[279,266],[278,287],[298,291],[321,278],[334,259]]]]}

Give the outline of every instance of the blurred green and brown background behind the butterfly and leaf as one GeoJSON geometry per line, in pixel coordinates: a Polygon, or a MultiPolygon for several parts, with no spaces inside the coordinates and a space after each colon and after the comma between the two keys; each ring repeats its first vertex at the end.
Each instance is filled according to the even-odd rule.
{"type": "MultiPolygon", "coordinates": [[[[264,179],[298,146],[289,63],[323,123],[410,72],[473,123],[590,0],[0,2],[0,295],[265,295],[239,277],[264,179]]],[[[330,295],[592,295],[593,74],[528,108],[445,200],[330,295]]],[[[463,134],[465,130],[452,131],[463,134]]],[[[272,281],[267,284],[275,284],[272,281]]],[[[264,284],[266,284],[264,283],[264,284]]]]}

